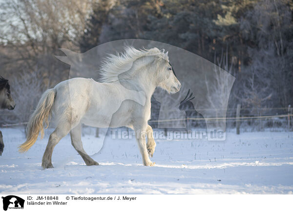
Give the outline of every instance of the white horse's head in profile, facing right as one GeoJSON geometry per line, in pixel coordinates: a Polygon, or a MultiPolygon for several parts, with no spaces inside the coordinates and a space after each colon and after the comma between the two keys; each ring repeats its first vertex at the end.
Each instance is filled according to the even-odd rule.
{"type": "Polygon", "coordinates": [[[168,61],[168,52],[165,53],[165,59],[160,63],[158,74],[158,87],[167,90],[169,93],[176,93],[181,88],[181,83],[175,76],[175,72],[168,61]]]}

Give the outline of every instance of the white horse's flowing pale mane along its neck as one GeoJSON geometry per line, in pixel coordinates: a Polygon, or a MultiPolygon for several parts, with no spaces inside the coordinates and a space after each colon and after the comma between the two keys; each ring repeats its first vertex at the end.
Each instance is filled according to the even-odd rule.
{"type": "Polygon", "coordinates": [[[154,56],[154,59],[165,59],[169,61],[165,50],[159,50],[158,48],[137,50],[133,47],[125,47],[124,53],[117,53],[117,55],[109,54],[102,63],[100,73],[102,75],[100,81],[105,83],[111,83],[118,81],[118,75],[129,71],[135,60],[144,56],[154,56]]]}

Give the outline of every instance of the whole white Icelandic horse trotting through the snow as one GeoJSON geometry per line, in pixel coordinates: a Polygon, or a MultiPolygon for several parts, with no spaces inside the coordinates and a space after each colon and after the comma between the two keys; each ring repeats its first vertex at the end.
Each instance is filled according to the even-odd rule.
{"type": "Polygon", "coordinates": [[[150,119],[150,99],[157,87],[178,92],[181,84],[172,72],[167,53],[157,48],[136,50],[127,47],[121,55],[110,55],[101,68],[102,83],[93,79],[73,78],[46,90],[27,125],[27,140],[20,152],[27,151],[43,136],[43,122],[49,124],[52,113],[57,127],[50,135],[42,158],[43,168],[53,168],[55,145],[69,132],[71,144],[86,165],[99,165],[84,151],[81,124],[94,127],[127,126],[136,133],[143,163],[153,166],[148,157],[155,151],[150,119]],[[147,135],[147,144],[146,144],[147,135]]]}

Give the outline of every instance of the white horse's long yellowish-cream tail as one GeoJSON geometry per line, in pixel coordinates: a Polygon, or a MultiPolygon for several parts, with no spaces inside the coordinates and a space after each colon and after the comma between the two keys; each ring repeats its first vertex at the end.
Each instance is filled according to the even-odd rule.
{"type": "Polygon", "coordinates": [[[43,122],[49,125],[49,116],[51,114],[51,108],[54,104],[56,95],[56,89],[48,89],[43,94],[38,103],[38,106],[34,113],[31,115],[29,122],[27,123],[27,139],[19,146],[20,152],[26,152],[37,141],[39,132],[41,131],[41,139],[44,136],[43,122]]]}

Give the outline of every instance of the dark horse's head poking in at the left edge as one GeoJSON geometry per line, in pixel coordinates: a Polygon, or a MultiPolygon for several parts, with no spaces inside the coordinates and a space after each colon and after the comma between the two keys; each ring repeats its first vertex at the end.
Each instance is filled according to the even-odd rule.
{"type": "Polygon", "coordinates": [[[7,79],[0,76],[0,108],[13,110],[15,102],[10,93],[10,86],[7,79]]]}

